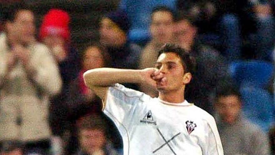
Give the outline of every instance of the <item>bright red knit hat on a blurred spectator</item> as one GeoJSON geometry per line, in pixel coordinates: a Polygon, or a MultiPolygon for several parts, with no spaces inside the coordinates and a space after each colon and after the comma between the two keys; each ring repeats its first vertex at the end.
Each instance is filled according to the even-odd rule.
{"type": "Polygon", "coordinates": [[[70,16],[67,12],[60,9],[51,9],[44,16],[39,38],[44,39],[48,35],[60,35],[65,40],[70,39],[70,16]]]}

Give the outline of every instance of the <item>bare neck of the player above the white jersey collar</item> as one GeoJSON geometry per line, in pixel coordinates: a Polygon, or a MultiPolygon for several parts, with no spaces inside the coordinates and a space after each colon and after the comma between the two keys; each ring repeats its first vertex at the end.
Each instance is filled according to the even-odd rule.
{"type": "Polygon", "coordinates": [[[184,99],[184,91],[170,91],[170,92],[159,92],[159,99],[170,103],[182,103],[184,99]]]}

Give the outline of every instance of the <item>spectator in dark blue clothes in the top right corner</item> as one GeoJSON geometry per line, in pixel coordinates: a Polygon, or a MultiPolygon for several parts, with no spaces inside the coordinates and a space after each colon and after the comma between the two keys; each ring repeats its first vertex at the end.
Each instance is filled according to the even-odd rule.
{"type": "Polygon", "coordinates": [[[249,15],[255,23],[255,30],[246,39],[247,59],[272,61],[272,50],[275,42],[275,20],[272,4],[268,0],[250,0],[249,15]]]}

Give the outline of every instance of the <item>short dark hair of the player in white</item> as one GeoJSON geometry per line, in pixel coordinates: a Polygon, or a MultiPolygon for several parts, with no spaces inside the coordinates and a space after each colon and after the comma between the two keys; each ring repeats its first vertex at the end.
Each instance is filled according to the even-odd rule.
{"type": "Polygon", "coordinates": [[[195,68],[195,59],[184,49],[180,48],[178,45],[165,44],[162,49],[158,52],[158,57],[163,53],[175,53],[177,54],[182,62],[185,73],[193,73],[195,68]]]}

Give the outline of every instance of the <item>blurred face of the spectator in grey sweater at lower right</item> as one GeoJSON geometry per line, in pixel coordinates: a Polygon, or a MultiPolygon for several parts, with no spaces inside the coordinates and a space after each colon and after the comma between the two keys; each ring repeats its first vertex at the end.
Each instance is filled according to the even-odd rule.
{"type": "Polygon", "coordinates": [[[222,96],[216,103],[216,110],[222,117],[222,120],[232,124],[236,121],[236,118],[241,109],[241,102],[237,96],[222,96]]]}

